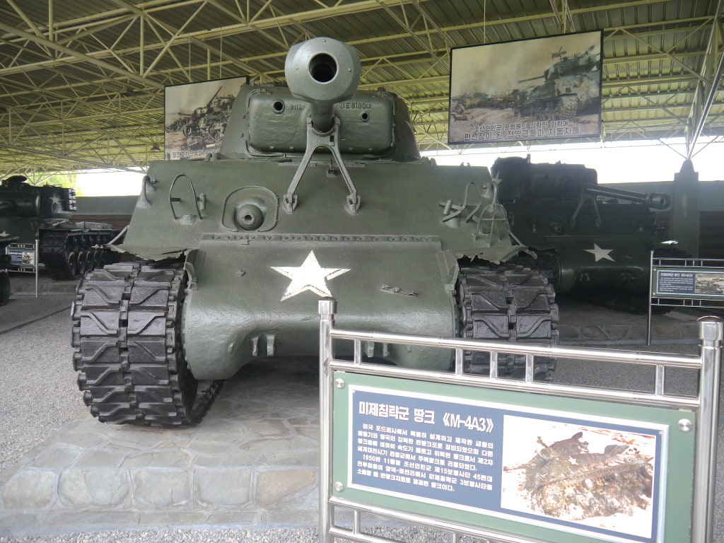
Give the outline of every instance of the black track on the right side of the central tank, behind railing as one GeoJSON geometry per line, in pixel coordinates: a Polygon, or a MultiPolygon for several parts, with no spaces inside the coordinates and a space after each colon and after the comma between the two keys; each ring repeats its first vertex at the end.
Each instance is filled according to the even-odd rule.
{"type": "MultiPolygon", "coordinates": [[[[555,293],[539,271],[516,264],[461,268],[458,304],[461,337],[557,345],[555,293]]],[[[489,353],[464,357],[464,371],[489,375],[489,353]]],[[[550,380],[554,370],[555,359],[534,359],[534,379],[550,380]]],[[[525,356],[498,355],[499,376],[521,379],[525,372],[525,356]]]]}

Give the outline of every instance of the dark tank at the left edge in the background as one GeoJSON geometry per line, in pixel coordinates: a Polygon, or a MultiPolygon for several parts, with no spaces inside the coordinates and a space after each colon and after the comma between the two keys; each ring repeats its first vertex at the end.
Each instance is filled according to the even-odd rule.
{"type": "Polygon", "coordinates": [[[52,185],[34,186],[23,175],[0,182],[0,241],[15,237],[4,253],[11,269],[35,266],[38,260],[53,279],[77,279],[96,266],[117,259],[102,248],[116,235],[110,224],[72,220],[75,190],[52,185]]]}

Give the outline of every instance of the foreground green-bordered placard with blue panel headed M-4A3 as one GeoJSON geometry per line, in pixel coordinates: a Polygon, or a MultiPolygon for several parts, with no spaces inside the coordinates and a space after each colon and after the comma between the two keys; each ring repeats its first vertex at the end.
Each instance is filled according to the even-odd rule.
{"type": "Polygon", "coordinates": [[[334,392],[334,476],[344,481],[335,495],[521,536],[550,532],[557,542],[688,536],[665,511],[672,500],[691,507],[693,460],[677,464],[688,478],[667,473],[672,447],[683,440],[693,450],[691,434],[671,431],[691,413],[400,387],[400,379],[341,372],[335,379],[345,382],[334,392]]]}

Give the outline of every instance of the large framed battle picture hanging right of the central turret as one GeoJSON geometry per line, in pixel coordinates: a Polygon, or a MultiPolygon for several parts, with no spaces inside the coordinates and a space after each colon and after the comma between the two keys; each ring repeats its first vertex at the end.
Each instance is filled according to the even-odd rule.
{"type": "Polygon", "coordinates": [[[448,143],[599,135],[602,36],[584,32],[452,49],[448,143]]]}

